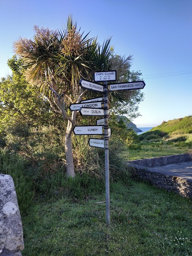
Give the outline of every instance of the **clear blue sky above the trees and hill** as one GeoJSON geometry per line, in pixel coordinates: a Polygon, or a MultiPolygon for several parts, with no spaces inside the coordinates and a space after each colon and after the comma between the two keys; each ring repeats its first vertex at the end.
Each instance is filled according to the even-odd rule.
{"type": "Polygon", "coordinates": [[[191,0],[0,0],[0,77],[12,43],[33,36],[34,25],[62,28],[69,14],[98,40],[112,36],[117,54],[133,55],[146,86],[138,127],[192,114],[191,0]]]}

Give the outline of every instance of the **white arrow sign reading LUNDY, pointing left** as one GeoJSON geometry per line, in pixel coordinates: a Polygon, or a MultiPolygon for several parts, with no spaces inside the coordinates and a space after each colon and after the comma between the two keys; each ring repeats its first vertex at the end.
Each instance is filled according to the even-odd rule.
{"type": "Polygon", "coordinates": [[[75,126],[73,128],[75,135],[103,134],[103,126],[75,126]]]}

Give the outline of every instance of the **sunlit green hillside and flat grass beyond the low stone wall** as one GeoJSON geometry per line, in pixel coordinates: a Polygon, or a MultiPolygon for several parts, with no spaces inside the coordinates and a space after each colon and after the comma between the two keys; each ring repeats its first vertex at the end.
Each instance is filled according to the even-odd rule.
{"type": "Polygon", "coordinates": [[[192,152],[192,116],[169,120],[139,135],[140,146],[125,152],[127,160],[192,152]]]}

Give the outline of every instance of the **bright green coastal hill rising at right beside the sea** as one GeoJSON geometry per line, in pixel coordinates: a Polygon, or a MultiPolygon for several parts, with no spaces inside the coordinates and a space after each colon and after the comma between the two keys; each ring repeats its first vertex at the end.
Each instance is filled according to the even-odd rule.
{"type": "Polygon", "coordinates": [[[184,118],[178,118],[174,120],[164,121],[162,124],[152,128],[150,131],[140,135],[140,139],[149,136],[155,138],[156,136],[172,138],[174,136],[186,135],[189,138],[192,137],[192,116],[186,116],[184,118]]]}

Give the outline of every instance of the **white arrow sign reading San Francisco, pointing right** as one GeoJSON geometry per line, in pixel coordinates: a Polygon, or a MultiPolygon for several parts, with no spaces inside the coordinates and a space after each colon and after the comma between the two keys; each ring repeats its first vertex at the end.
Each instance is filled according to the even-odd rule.
{"type": "Polygon", "coordinates": [[[110,91],[121,91],[121,90],[134,90],[143,89],[145,86],[144,81],[126,82],[119,84],[110,84],[110,91]]]}

